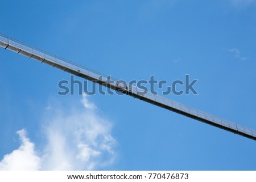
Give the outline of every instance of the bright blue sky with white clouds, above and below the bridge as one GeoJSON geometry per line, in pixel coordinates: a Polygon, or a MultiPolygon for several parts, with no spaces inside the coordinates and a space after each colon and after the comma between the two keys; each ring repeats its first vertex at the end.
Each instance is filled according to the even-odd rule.
{"type": "MultiPolygon", "coordinates": [[[[254,0],[0,2],[1,33],[126,81],[189,74],[199,95],[167,98],[256,129],[254,0]]],[[[1,169],[256,169],[251,139],[129,96],[59,96],[68,73],[0,60],[1,169]]]]}

